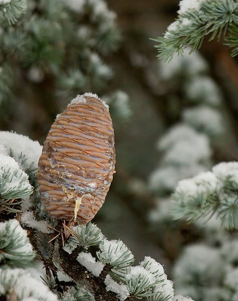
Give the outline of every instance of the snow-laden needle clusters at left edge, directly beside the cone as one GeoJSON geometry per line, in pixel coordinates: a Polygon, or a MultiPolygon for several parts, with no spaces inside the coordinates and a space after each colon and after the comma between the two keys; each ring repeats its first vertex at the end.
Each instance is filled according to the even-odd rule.
{"type": "Polygon", "coordinates": [[[0,211],[18,212],[22,198],[31,195],[36,185],[42,146],[14,132],[1,131],[0,139],[0,211]]]}

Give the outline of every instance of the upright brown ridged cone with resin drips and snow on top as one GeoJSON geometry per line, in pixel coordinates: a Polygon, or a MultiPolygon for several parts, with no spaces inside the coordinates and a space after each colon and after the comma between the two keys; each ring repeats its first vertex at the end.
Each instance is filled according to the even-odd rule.
{"type": "Polygon", "coordinates": [[[78,95],[44,142],[37,179],[46,210],[55,219],[88,223],[104,203],[114,168],[108,106],[97,95],[78,95]]]}

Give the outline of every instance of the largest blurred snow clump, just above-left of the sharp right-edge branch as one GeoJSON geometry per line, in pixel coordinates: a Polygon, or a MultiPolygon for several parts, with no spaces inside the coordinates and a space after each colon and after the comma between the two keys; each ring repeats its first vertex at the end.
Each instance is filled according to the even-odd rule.
{"type": "Polygon", "coordinates": [[[208,137],[183,123],[171,127],[158,148],[164,153],[163,163],[151,173],[149,186],[160,195],[172,192],[181,179],[205,171],[211,158],[208,137]]]}

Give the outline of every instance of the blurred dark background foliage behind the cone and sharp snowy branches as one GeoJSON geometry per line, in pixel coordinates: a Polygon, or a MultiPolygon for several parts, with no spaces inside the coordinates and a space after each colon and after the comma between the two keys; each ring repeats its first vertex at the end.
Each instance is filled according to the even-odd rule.
{"type": "MultiPolygon", "coordinates": [[[[164,264],[176,287],[181,269],[188,268],[184,257],[177,260],[192,252],[190,244],[205,245],[204,254],[206,248],[227,254],[224,241],[236,237],[215,219],[206,226],[173,221],[169,206],[179,180],[238,159],[237,58],[205,39],[189,57],[158,61],[150,38],[161,36],[174,20],[178,0],[75,3],[29,0],[17,25],[2,23],[1,129],[43,143],[73,97],[99,94],[115,126],[116,174],[94,222],[109,239],[122,239],[137,261],[150,255],[164,264]]],[[[195,261],[199,248],[192,253],[195,261]]],[[[178,290],[195,300],[217,300],[224,277],[210,280],[213,294],[201,289],[203,282],[193,291],[180,289],[192,278],[178,281],[178,290]]]]}

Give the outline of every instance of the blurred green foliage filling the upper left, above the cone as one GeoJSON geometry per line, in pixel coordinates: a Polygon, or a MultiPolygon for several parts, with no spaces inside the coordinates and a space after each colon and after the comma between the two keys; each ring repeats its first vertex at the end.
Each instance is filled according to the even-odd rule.
{"type": "Polygon", "coordinates": [[[107,92],[109,102],[123,103],[126,118],[126,96],[108,91],[113,70],[105,59],[118,49],[120,33],[104,0],[5,0],[0,20],[0,103],[50,100],[55,115],[78,94],[107,92]]]}

